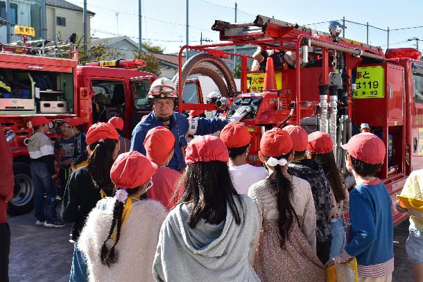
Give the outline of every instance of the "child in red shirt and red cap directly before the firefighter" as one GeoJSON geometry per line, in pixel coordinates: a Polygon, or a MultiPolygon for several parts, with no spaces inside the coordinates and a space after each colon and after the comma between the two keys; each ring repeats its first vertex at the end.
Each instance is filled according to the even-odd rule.
{"type": "Polygon", "coordinates": [[[175,136],[163,126],[148,130],[144,139],[147,158],[158,166],[152,178],[153,187],[148,190],[147,195],[151,200],[161,202],[168,211],[175,206],[183,193],[182,189],[177,188],[181,174],[178,170],[167,167],[173,157],[173,146],[175,136]]]}

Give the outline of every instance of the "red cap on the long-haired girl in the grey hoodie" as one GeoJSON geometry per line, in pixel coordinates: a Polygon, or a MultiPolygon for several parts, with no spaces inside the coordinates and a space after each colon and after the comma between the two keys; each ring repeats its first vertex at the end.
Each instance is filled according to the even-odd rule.
{"type": "Polygon", "coordinates": [[[229,161],[229,153],[225,143],[212,135],[197,136],[189,142],[187,147],[187,164],[199,161],[229,161]]]}

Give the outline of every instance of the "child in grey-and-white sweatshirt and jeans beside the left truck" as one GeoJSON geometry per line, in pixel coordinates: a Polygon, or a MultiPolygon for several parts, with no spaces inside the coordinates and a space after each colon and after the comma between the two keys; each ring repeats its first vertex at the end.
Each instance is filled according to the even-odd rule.
{"type": "Polygon", "coordinates": [[[64,227],[55,211],[56,187],[54,148],[46,134],[50,121],[45,116],[34,116],[31,120],[34,133],[28,138],[28,152],[31,157],[31,177],[34,184],[34,209],[36,225],[44,227],[64,227]],[[44,213],[44,193],[47,195],[47,206],[44,213]]]}

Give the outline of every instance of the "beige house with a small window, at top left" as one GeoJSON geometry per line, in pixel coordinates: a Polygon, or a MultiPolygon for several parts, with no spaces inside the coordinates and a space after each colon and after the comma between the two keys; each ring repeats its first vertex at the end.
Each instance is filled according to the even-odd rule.
{"type": "MultiPolygon", "coordinates": [[[[89,21],[94,12],[87,10],[87,38],[89,38],[89,21]]],[[[72,33],[79,37],[84,35],[83,8],[64,0],[46,0],[47,38],[51,40],[69,38],[72,33]]]]}

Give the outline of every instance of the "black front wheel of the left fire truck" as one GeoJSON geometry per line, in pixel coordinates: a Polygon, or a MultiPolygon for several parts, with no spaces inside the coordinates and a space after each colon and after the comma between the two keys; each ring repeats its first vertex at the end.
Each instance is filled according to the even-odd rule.
{"type": "Polygon", "coordinates": [[[15,195],[9,202],[8,213],[10,215],[29,213],[33,209],[34,195],[31,168],[26,163],[14,163],[13,174],[15,175],[15,195]]]}

